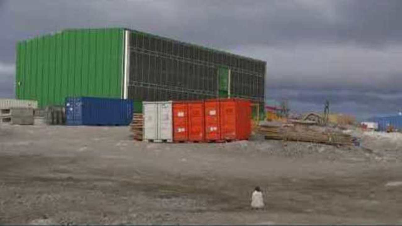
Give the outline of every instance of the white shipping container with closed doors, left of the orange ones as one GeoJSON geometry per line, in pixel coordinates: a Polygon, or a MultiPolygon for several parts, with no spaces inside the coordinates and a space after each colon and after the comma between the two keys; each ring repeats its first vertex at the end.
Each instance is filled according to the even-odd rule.
{"type": "Polygon", "coordinates": [[[172,141],[172,102],[142,102],[144,139],[172,141]]]}

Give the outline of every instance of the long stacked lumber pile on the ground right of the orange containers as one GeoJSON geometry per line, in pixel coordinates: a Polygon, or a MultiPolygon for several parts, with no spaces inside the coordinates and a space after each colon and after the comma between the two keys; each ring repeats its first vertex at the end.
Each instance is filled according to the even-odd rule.
{"type": "Polygon", "coordinates": [[[294,126],[260,126],[259,131],[269,140],[292,140],[321,143],[327,145],[352,145],[353,138],[349,134],[338,131],[314,131],[294,126]]]}

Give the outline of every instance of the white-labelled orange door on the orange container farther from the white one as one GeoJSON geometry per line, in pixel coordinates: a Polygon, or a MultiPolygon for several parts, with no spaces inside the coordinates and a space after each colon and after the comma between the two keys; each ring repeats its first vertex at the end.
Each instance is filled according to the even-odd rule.
{"type": "Polygon", "coordinates": [[[205,102],[205,140],[220,140],[219,102],[205,102]]]}

